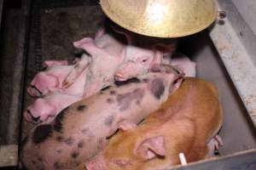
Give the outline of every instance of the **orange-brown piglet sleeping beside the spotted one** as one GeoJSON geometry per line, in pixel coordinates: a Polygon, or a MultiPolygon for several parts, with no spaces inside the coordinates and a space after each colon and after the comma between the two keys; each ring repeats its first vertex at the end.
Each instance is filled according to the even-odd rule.
{"type": "Polygon", "coordinates": [[[138,127],[125,122],[100,154],[85,163],[88,170],[167,169],[207,156],[221,127],[223,113],[211,83],[185,78],[177,92],[138,127]]]}

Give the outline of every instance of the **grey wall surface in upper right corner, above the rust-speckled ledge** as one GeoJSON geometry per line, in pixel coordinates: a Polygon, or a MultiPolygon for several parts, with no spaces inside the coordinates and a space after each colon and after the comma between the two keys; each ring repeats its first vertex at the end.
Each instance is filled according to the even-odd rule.
{"type": "Polygon", "coordinates": [[[228,21],[234,36],[241,41],[246,53],[256,65],[256,1],[218,0],[217,4],[221,7],[220,10],[225,12],[226,18],[223,21],[228,21]]]}

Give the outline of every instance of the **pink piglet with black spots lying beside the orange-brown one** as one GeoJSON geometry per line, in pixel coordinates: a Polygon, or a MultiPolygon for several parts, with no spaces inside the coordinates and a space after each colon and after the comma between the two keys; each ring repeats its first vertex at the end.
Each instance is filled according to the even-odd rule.
{"type": "Polygon", "coordinates": [[[73,168],[103,149],[125,122],[137,124],[166,101],[182,82],[183,72],[157,65],[152,72],[117,83],[79,100],[28,134],[20,160],[26,169],[73,168]]]}

